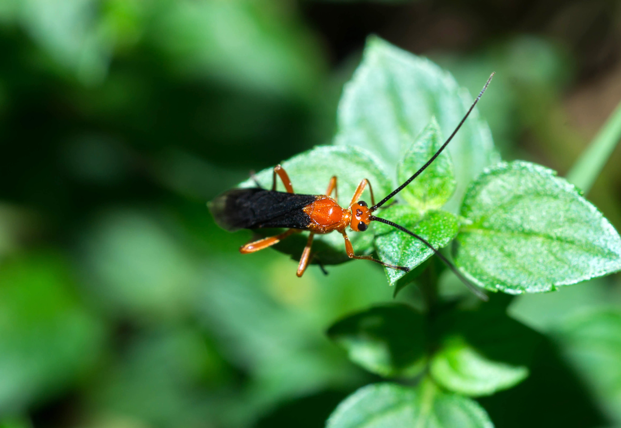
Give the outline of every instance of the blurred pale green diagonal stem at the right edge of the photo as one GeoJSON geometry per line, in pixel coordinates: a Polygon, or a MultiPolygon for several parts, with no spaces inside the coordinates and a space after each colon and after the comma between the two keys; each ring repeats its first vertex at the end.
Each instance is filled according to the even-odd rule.
{"type": "Polygon", "coordinates": [[[582,152],[567,175],[567,180],[589,193],[610,153],[621,139],[621,102],[599,130],[589,147],[582,152]]]}

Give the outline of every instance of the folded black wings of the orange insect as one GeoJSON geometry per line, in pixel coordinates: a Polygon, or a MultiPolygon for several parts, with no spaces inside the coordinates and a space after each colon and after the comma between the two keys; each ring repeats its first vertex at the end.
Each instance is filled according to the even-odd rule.
{"type": "Polygon", "coordinates": [[[311,217],[302,208],[315,201],[315,195],[284,193],[261,188],[232,189],[207,204],[222,229],[291,227],[306,229],[311,217]]]}

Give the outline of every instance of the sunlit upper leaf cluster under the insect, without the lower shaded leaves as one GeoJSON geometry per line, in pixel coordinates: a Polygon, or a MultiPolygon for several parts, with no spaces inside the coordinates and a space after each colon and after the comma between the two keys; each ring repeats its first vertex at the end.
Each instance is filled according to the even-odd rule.
{"type": "MultiPolygon", "coordinates": [[[[282,165],[297,193],[325,193],[336,175],[342,206],[364,178],[382,198],[440,148],[470,102],[455,80],[429,60],[372,37],[343,91],[334,145],[316,147],[282,165]]],[[[268,168],[257,178],[269,187],[271,176],[268,168]]],[[[252,180],[242,183],[253,185],[252,180]]],[[[369,201],[370,194],[363,198],[369,201]]],[[[489,291],[540,293],[621,270],[621,238],[601,212],[548,168],[499,162],[476,109],[448,150],[394,199],[396,204],[378,211],[379,217],[436,248],[454,242],[456,265],[489,291]]],[[[388,225],[373,226],[352,234],[358,253],[374,251],[384,262],[412,269],[433,253],[388,225]]],[[[317,240],[322,263],[348,260],[337,234],[317,240]]],[[[305,241],[298,237],[281,249],[297,258],[305,241]]],[[[390,285],[404,275],[386,269],[390,285]]]]}

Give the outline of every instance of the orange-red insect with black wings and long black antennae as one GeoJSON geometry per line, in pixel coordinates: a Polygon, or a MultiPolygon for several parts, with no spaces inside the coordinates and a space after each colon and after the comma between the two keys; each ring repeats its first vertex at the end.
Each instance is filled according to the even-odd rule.
{"type": "Polygon", "coordinates": [[[383,206],[393,196],[399,193],[405,188],[412,180],[422,173],[422,171],[431,165],[435,158],[442,153],[442,150],[448,145],[448,143],[455,137],[455,134],[461,128],[461,125],[466,121],[470,112],[476,106],[476,103],[481,99],[483,93],[487,89],[487,85],[492,80],[489,76],[487,82],[483,86],[479,96],[474,99],[473,104],[470,106],[466,115],[461,119],[461,122],[457,125],[453,133],[443,143],[442,147],[423,165],[414,175],[412,175],[405,183],[401,184],[398,188],[394,189],[386,198],[375,203],[373,196],[373,188],[366,178],[358,184],[351,202],[347,208],[342,208],[338,205],[337,200],[330,196],[333,192],[337,191],[337,177],[333,176],[330,179],[328,188],[325,194],[297,194],[293,191],[291,180],[286,171],[280,165],[274,167],[273,182],[271,190],[263,189],[261,187],[256,188],[237,188],[229,190],[220,196],[217,196],[211,203],[209,203],[209,209],[214,216],[215,222],[220,227],[231,232],[238,229],[261,229],[265,227],[284,227],[287,228],[285,232],[249,242],[240,248],[240,252],[243,254],[253,253],[263,248],[271,247],[271,245],[278,244],[281,240],[285,239],[289,235],[292,235],[302,230],[309,230],[308,241],[302,257],[300,258],[299,265],[297,266],[297,276],[302,276],[306,267],[311,259],[311,245],[315,234],[327,234],[333,230],[337,230],[343,235],[345,239],[345,250],[350,258],[361,258],[365,260],[371,260],[379,263],[383,266],[392,269],[398,269],[402,271],[409,271],[407,266],[396,266],[384,263],[381,260],[377,260],[371,256],[355,255],[351,242],[347,237],[345,229],[349,226],[354,232],[364,232],[370,222],[378,221],[384,224],[391,225],[397,229],[411,235],[412,237],[420,240],[423,244],[427,245],[435,255],[440,257],[443,262],[448,265],[453,272],[465,283],[471,290],[474,291],[479,297],[485,298],[484,294],[469,283],[468,280],[460,273],[460,271],[453,266],[442,253],[438,252],[427,240],[423,239],[414,232],[407,230],[405,227],[383,219],[381,217],[373,216],[371,213],[376,211],[379,207],[383,206]],[[283,181],[285,192],[276,191],[276,175],[283,181]],[[362,195],[366,186],[369,186],[371,193],[371,207],[365,201],[359,201],[358,199],[362,195]]]}

